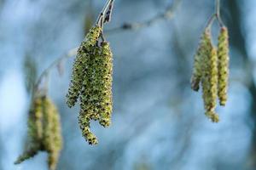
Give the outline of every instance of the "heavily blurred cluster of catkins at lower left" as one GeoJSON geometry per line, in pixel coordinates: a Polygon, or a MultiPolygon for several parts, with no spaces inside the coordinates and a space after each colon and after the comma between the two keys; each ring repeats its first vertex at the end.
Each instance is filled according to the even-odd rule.
{"type": "Polygon", "coordinates": [[[28,144],[15,164],[37,155],[38,151],[46,151],[49,169],[55,170],[62,148],[61,125],[59,113],[48,97],[33,99],[27,124],[28,144]]]}

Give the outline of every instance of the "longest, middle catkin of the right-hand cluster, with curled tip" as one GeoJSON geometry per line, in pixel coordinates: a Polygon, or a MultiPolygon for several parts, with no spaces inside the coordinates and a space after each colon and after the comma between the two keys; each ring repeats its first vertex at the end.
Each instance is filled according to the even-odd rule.
{"type": "Polygon", "coordinates": [[[204,50],[202,53],[202,91],[206,110],[206,116],[212,122],[218,122],[218,115],[215,113],[218,93],[218,56],[217,50],[212,45],[211,31],[204,32],[204,50]]]}

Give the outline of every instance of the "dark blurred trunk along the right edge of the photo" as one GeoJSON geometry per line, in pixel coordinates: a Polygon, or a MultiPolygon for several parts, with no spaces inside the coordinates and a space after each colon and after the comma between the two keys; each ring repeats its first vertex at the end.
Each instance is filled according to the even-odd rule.
{"type": "Polygon", "coordinates": [[[249,54],[247,53],[247,39],[243,34],[242,26],[244,26],[244,23],[242,22],[244,18],[242,18],[242,8],[241,8],[241,1],[240,0],[234,0],[232,2],[230,1],[224,1],[224,3],[227,5],[227,9],[230,13],[230,16],[232,16],[233,20],[228,20],[228,26],[232,29],[230,29],[230,45],[233,48],[236,48],[236,53],[240,54],[241,57],[241,66],[244,70],[245,77],[248,78],[247,80],[247,89],[251,94],[251,101],[250,101],[250,120],[251,122],[248,123],[251,126],[252,130],[252,139],[251,139],[251,145],[248,151],[247,155],[247,165],[246,169],[255,169],[256,167],[256,84],[253,80],[253,72],[254,68],[252,65],[252,61],[249,57],[249,54]],[[252,124],[251,124],[252,123],[252,124]]]}

